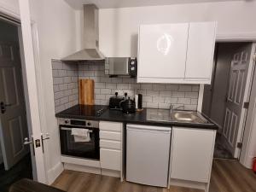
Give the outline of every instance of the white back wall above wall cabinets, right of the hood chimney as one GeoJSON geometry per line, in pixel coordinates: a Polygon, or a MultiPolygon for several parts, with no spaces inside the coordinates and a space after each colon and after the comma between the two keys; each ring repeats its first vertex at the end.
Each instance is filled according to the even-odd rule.
{"type": "Polygon", "coordinates": [[[100,49],[107,56],[137,55],[138,26],[151,23],[217,20],[218,37],[256,37],[255,10],[256,1],[100,9],[100,49]]]}

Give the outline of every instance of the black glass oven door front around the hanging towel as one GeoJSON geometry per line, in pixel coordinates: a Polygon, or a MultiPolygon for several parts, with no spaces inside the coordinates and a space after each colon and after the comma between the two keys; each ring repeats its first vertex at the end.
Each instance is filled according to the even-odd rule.
{"type": "Polygon", "coordinates": [[[72,129],[61,127],[61,154],[92,160],[100,159],[99,130],[89,129],[90,142],[77,142],[71,134],[72,129]]]}

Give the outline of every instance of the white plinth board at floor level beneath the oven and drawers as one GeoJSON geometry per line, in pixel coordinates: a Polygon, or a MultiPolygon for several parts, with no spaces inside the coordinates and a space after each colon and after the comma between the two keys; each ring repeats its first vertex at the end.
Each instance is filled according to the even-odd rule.
{"type": "Polygon", "coordinates": [[[64,163],[64,169],[65,170],[72,170],[76,172],[88,172],[98,175],[105,175],[105,176],[111,176],[111,177],[120,177],[120,172],[108,170],[108,169],[102,169],[100,167],[91,167],[91,166],[80,166],[70,163],[64,163]]]}

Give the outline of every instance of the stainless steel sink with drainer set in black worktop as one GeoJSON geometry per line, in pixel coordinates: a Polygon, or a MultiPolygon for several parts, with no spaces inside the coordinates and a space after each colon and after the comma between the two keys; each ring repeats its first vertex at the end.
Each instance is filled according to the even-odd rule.
{"type": "Polygon", "coordinates": [[[168,121],[168,122],[181,122],[181,123],[195,123],[195,124],[206,124],[208,123],[200,113],[195,111],[173,111],[166,109],[148,109],[147,119],[154,121],[168,121]]]}

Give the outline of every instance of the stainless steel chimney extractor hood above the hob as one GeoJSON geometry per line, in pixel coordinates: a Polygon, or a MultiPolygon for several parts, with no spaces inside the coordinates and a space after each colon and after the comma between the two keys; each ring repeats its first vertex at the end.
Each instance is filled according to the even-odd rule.
{"type": "Polygon", "coordinates": [[[61,61],[99,61],[105,57],[99,50],[98,9],[95,4],[84,4],[84,49],[61,61]]]}

